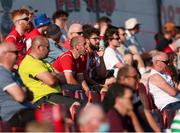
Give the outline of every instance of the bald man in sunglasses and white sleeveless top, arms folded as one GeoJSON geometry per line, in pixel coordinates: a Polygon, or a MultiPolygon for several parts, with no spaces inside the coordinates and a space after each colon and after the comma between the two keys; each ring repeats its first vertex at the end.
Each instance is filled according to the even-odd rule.
{"type": "Polygon", "coordinates": [[[166,53],[157,52],[153,56],[153,68],[149,77],[149,91],[158,109],[177,110],[180,108],[179,89],[175,88],[171,77],[164,73],[168,64],[166,53]]]}

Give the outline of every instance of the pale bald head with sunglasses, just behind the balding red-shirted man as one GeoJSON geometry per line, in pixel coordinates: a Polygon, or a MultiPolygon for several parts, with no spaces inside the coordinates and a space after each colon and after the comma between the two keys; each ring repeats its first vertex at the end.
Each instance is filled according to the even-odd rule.
{"type": "Polygon", "coordinates": [[[82,25],[79,23],[71,24],[68,30],[68,38],[78,36],[77,33],[83,32],[82,25]]]}

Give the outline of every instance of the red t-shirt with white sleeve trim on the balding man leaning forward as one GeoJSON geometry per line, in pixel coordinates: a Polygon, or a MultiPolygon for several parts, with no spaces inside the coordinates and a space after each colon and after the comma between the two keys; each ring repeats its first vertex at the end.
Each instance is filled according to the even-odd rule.
{"type": "Polygon", "coordinates": [[[82,59],[74,59],[71,51],[61,54],[52,64],[53,67],[60,73],[73,72],[73,74],[82,73],[84,65],[82,59]]]}

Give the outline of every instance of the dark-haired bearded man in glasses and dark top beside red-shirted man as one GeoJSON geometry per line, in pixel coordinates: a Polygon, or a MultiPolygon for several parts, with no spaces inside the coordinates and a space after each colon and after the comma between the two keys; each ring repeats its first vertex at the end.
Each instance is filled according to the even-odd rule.
{"type": "Polygon", "coordinates": [[[92,87],[96,85],[96,88],[102,88],[107,70],[103,60],[104,51],[99,49],[99,30],[90,27],[84,31],[84,37],[87,45],[86,81],[92,87]]]}

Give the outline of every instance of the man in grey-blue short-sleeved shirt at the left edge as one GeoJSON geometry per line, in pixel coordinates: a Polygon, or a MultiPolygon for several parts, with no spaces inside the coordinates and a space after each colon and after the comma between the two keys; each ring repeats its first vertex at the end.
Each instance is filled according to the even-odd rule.
{"type": "Polygon", "coordinates": [[[34,110],[23,104],[26,101],[25,90],[15,82],[11,73],[17,53],[14,44],[0,45],[0,116],[10,126],[24,127],[35,117],[34,110]]]}

